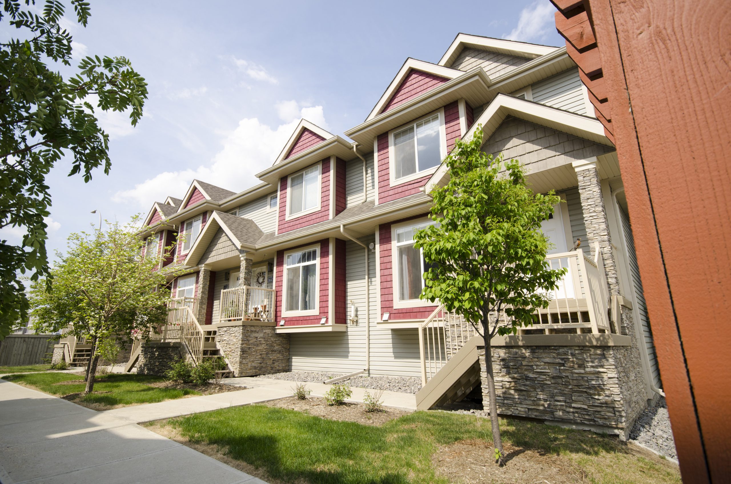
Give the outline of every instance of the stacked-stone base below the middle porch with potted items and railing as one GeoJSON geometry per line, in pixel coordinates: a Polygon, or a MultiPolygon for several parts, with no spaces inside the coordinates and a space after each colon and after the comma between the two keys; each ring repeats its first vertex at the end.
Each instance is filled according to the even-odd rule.
{"type": "Polygon", "coordinates": [[[219,323],[216,344],[236,377],[289,370],[289,335],[274,326],[219,323]]]}

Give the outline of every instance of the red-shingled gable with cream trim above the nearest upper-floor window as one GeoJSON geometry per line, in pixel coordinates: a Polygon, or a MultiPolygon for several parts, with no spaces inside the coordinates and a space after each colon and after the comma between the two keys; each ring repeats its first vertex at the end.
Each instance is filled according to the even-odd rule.
{"type": "Polygon", "coordinates": [[[463,72],[458,69],[409,57],[371,110],[366,121],[462,74],[463,72]]]}

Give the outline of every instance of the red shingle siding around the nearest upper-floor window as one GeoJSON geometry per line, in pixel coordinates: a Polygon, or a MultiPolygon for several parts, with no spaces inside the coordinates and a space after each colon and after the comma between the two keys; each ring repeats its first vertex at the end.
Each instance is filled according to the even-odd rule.
{"type": "MultiPolygon", "coordinates": [[[[447,134],[447,153],[452,151],[455,139],[460,136],[459,106],[452,102],[444,106],[444,131],[447,134]]],[[[431,175],[423,178],[407,181],[404,184],[390,186],[390,164],[388,152],[388,133],[378,137],[378,203],[386,203],[391,200],[408,197],[417,194],[420,188],[426,184],[431,175]]]]}

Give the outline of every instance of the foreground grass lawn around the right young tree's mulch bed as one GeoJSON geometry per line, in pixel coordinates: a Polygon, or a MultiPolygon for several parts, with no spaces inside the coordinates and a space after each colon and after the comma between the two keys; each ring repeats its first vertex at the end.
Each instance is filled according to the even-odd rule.
{"type": "MultiPolygon", "coordinates": [[[[446,483],[431,456],[439,445],[491,442],[490,421],[447,412],[415,412],[383,426],[325,420],[289,409],[253,405],[168,420],[192,442],[216,445],[281,482],[446,483]]],[[[593,483],[680,483],[675,469],[651,461],[615,437],[502,420],[504,442],[569,458],[593,483]]],[[[485,464],[491,466],[485,453],[485,464]]],[[[509,464],[510,465],[510,464],[509,464]]]]}

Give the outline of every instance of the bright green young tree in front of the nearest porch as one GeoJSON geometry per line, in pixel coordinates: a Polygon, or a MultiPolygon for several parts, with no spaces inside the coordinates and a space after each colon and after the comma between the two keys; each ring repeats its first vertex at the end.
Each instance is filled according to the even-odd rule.
{"type": "Polygon", "coordinates": [[[421,298],[440,300],[482,336],[493,442],[502,464],[490,342],[531,325],[534,309],[548,306],[548,291],[564,274],[546,265],[548,239],[540,231],[560,199],[553,192],[534,194],[518,160],[483,153],[482,129],[469,142],[458,140],[444,163],[450,181],[431,192],[437,224],[414,236],[430,265],[421,298]]]}

